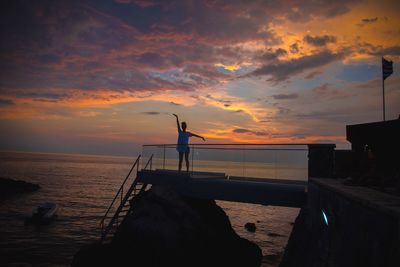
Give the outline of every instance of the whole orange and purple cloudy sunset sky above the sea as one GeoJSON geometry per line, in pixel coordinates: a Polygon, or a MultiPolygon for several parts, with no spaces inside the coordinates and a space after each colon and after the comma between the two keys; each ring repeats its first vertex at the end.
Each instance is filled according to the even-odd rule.
{"type": "Polygon", "coordinates": [[[0,150],[336,143],[400,114],[400,1],[2,1],[0,150]],[[8,3],[9,2],[9,3],[8,3]],[[200,142],[192,140],[192,142],[200,142]]]}

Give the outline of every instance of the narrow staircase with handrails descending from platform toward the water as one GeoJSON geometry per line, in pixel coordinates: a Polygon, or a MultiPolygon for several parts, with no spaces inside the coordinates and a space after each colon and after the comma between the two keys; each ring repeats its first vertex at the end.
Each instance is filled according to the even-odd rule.
{"type": "MultiPolygon", "coordinates": [[[[141,155],[139,155],[135,160],[135,162],[133,163],[128,175],[126,176],[117,194],[115,195],[106,213],[104,214],[103,218],[100,221],[101,242],[106,241],[107,238],[109,238],[110,236],[112,236],[112,234],[116,232],[119,225],[123,223],[127,215],[130,213],[135,198],[146,190],[147,184],[142,183],[137,179],[137,174],[139,172],[140,158],[141,155]],[[131,174],[134,169],[136,169],[136,174],[134,177],[131,177],[133,176],[131,174]],[[124,188],[128,188],[128,190],[124,192],[124,188]],[[114,214],[111,215],[113,212],[114,214]]],[[[148,166],[150,166],[151,170],[152,162],[153,162],[153,155],[151,155],[151,157],[146,163],[146,166],[143,169],[145,170],[147,169],[148,166]]]]}

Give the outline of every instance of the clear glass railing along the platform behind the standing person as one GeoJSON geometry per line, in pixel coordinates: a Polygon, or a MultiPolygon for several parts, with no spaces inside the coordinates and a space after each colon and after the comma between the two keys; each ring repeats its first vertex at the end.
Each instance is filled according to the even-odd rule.
{"type": "MultiPolygon", "coordinates": [[[[177,170],[176,144],[144,145],[155,169],[177,170]]],[[[190,144],[189,172],[223,172],[227,176],[307,180],[308,144],[190,144]]],[[[186,171],[183,157],[182,171],[186,171]]]]}

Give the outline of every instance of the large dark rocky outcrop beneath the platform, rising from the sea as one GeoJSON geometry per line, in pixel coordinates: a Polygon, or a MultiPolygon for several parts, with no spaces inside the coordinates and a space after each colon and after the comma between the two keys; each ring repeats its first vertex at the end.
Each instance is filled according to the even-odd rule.
{"type": "Polygon", "coordinates": [[[135,201],[111,244],[82,249],[72,265],[260,266],[261,257],[215,201],[153,187],[135,201]]]}

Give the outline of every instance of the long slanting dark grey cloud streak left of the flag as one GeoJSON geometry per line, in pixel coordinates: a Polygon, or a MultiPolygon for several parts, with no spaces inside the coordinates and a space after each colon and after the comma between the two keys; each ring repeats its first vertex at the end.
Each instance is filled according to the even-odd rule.
{"type": "Polygon", "coordinates": [[[306,70],[325,66],[343,58],[343,56],[343,52],[333,53],[329,50],[324,50],[314,55],[265,64],[247,76],[270,75],[273,81],[283,81],[306,70]]]}

